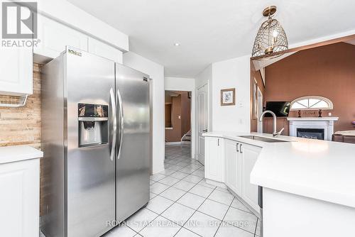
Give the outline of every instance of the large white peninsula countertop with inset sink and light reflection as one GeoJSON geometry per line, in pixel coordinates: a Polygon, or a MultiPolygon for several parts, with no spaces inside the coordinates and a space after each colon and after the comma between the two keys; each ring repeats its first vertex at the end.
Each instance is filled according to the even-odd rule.
{"type": "Polygon", "coordinates": [[[251,183],[327,202],[355,207],[355,144],[279,136],[266,143],[239,136],[265,133],[212,132],[214,136],[262,147],[251,183]]]}

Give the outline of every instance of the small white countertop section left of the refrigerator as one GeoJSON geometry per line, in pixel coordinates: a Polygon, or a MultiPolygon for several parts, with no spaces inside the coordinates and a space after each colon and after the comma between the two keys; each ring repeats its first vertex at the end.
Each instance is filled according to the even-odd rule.
{"type": "Polygon", "coordinates": [[[0,164],[42,158],[43,152],[29,145],[13,145],[0,147],[0,164]]]}

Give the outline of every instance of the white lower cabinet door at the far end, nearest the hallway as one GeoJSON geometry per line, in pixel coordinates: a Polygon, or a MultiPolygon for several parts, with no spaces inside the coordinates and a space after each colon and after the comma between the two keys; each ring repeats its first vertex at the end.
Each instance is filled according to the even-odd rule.
{"type": "Polygon", "coordinates": [[[209,180],[223,182],[223,139],[206,137],[204,140],[204,176],[209,180]]]}

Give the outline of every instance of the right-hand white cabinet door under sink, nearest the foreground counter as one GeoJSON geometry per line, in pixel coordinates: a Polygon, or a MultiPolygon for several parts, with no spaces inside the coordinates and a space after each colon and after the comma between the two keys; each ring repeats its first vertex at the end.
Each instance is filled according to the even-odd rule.
{"type": "Polygon", "coordinates": [[[255,145],[241,143],[241,198],[244,199],[253,209],[258,210],[258,186],[251,184],[250,174],[255,165],[261,148],[255,145]]]}

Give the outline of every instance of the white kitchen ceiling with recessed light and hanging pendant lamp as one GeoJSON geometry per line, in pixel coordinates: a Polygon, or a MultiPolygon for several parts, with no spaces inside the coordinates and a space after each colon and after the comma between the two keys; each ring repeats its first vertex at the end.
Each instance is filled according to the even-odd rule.
{"type": "Polygon", "coordinates": [[[354,0],[68,1],[129,35],[130,50],[171,77],[194,77],[211,62],[251,53],[269,5],[278,7],[289,44],[355,29],[354,0]]]}

